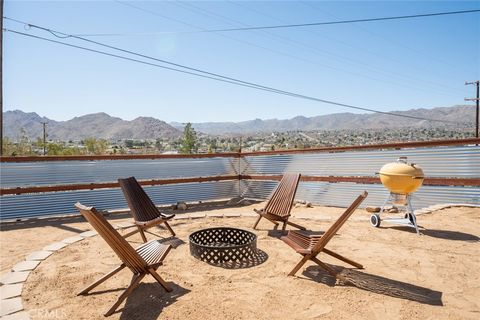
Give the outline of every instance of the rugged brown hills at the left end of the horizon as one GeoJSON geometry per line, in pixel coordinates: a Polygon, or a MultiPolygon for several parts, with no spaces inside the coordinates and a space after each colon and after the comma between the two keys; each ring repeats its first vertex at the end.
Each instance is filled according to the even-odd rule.
{"type": "Polygon", "coordinates": [[[47,122],[48,138],[52,140],[82,140],[88,137],[108,140],[178,138],[181,132],[164,121],[139,117],[132,121],[111,117],[106,113],[94,113],[75,117],[68,121],[55,121],[31,112],[20,110],[3,114],[4,136],[17,140],[21,128],[30,139],[43,136],[41,122],[47,122]]]}

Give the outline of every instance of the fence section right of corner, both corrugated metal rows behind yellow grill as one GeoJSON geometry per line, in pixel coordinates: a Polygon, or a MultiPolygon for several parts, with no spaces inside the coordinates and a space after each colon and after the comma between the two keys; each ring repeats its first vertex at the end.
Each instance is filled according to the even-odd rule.
{"type": "MultiPolygon", "coordinates": [[[[279,175],[300,172],[305,176],[374,176],[388,162],[407,156],[409,162],[419,164],[426,177],[479,178],[480,147],[432,147],[400,150],[369,150],[323,153],[295,153],[247,156],[241,159],[240,172],[246,175],[279,175]]],[[[277,182],[242,180],[241,195],[265,199],[277,182]]],[[[348,206],[360,192],[367,190],[368,198],[362,204],[381,205],[388,191],[381,184],[348,182],[301,182],[297,199],[315,204],[348,206]]],[[[413,205],[423,208],[438,203],[480,204],[480,186],[422,186],[413,196],[413,205]]]]}

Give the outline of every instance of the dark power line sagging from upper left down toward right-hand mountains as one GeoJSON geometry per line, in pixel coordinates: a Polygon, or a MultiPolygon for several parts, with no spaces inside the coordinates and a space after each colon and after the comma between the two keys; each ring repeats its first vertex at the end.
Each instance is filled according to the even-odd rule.
{"type": "MultiPolygon", "coordinates": [[[[10,19],[10,18],[6,18],[6,19],[10,19]]],[[[12,19],[10,19],[10,20],[12,20],[12,19]]],[[[140,56],[140,57],[143,57],[143,58],[155,60],[155,61],[158,61],[158,62],[173,65],[173,66],[180,67],[180,68],[190,70],[190,71],[181,70],[181,69],[177,69],[177,68],[173,68],[173,67],[167,67],[167,66],[147,62],[147,61],[142,61],[142,60],[138,60],[138,59],[134,59],[134,58],[130,58],[130,57],[125,57],[125,56],[121,56],[121,55],[117,55],[117,54],[113,54],[113,53],[108,53],[108,52],[105,52],[105,51],[100,51],[100,50],[96,50],[96,49],[91,49],[91,48],[87,48],[87,47],[73,45],[73,44],[69,44],[69,43],[65,43],[65,42],[61,42],[61,41],[57,41],[57,40],[52,40],[52,39],[48,39],[48,38],[44,38],[44,37],[40,37],[40,36],[36,36],[36,35],[32,35],[32,34],[20,32],[20,31],[16,31],[16,30],[11,30],[11,29],[6,29],[6,28],[4,28],[3,30],[7,31],[7,32],[12,32],[12,33],[15,33],[15,34],[18,34],[18,35],[22,35],[22,36],[26,36],[26,37],[30,37],[30,38],[35,38],[35,39],[39,39],[39,40],[44,40],[44,41],[48,41],[48,42],[51,42],[51,43],[61,44],[61,45],[65,45],[65,46],[68,46],[68,47],[82,49],[82,50],[85,50],[85,51],[90,51],[90,52],[94,52],[94,53],[98,53],[98,54],[102,54],[102,55],[106,55],[106,56],[111,56],[111,57],[115,57],[115,58],[119,58],[119,59],[123,59],[123,60],[129,60],[129,61],[132,61],[132,62],[142,63],[142,64],[145,64],[145,65],[155,66],[155,67],[159,67],[159,68],[163,68],[163,69],[167,69],[167,70],[171,70],[171,71],[177,71],[177,72],[181,72],[181,73],[184,73],[184,74],[194,75],[194,76],[198,76],[198,77],[202,77],[202,78],[208,78],[208,79],[211,79],[211,80],[226,82],[226,83],[239,85],[239,86],[243,86],[243,87],[249,87],[249,88],[252,88],[252,89],[257,89],[257,90],[282,94],[282,95],[286,95],[286,96],[290,96],[290,97],[296,97],[296,98],[306,99],[306,100],[310,100],[310,101],[322,102],[322,103],[336,105],[336,106],[340,106],[340,107],[362,110],[362,111],[368,111],[368,112],[374,112],[374,113],[385,114],[385,115],[390,115],[390,116],[404,117],[404,118],[410,118],[410,119],[416,119],[416,120],[462,124],[462,123],[459,123],[459,122],[448,121],[448,120],[428,119],[428,118],[423,118],[423,117],[416,117],[416,116],[410,116],[410,115],[404,115],[404,114],[398,114],[398,113],[392,113],[392,112],[386,112],[386,111],[379,111],[379,110],[375,110],[375,109],[358,107],[358,106],[354,106],[354,105],[350,105],[350,104],[344,104],[344,103],[340,103],[340,102],[320,99],[320,98],[311,97],[311,96],[298,94],[298,93],[294,93],[294,92],[284,91],[284,90],[280,90],[280,89],[256,84],[256,83],[253,83],[253,82],[243,81],[243,80],[223,76],[223,75],[220,75],[220,74],[217,74],[217,73],[203,71],[203,70],[200,70],[200,69],[188,67],[188,66],[181,65],[181,64],[178,64],[178,63],[173,63],[173,62],[170,62],[170,61],[150,57],[150,56],[147,56],[147,55],[135,53],[133,51],[117,48],[117,47],[110,46],[110,45],[103,44],[103,43],[99,43],[99,42],[96,42],[96,41],[92,41],[92,40],[89,40],[89,39],[84,39],[84,38],[77,37],[77,36],[67,35],[65,33],[54,31],[54,30],[51,30],[51,29],[48,29],[48,28],[39,27],[39,26],[31,25],[31,24],[27,24],[27,25],[31,26],[31,27],[41,29],[41,30],[44,30],[44,31],[48,31],[52,35],[54,35],[56,37],[59,37],[59,38],[76,38],[76,39],[84,40],[84,41],[91,42],[91,43],[94,43],[94,44],[97,44],[97,45],[100,45],[100,46],[104,46],[104,47],[107,47],[107,48],[110,48],[110,49],[118,50],[118,51],[128,53],[128,54],[132,54],[132,55],[137,55],[137,56],[140,56]],[[58,34],[62,34],[62,36],[59,36],[58,34]]]]}

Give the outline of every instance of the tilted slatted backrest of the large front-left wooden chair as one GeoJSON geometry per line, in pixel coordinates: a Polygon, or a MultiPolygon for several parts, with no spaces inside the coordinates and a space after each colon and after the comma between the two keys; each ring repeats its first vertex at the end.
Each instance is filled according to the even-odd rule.
{"type": "Polygon", "coordinates": [[[133,273],[138,274],[146,270],[147,263],[145,260],[143,260],[118,231],[108,223],[101,213],[94,207],[86,207],[80,202],[77,202],[75,207],[133,273]]]}

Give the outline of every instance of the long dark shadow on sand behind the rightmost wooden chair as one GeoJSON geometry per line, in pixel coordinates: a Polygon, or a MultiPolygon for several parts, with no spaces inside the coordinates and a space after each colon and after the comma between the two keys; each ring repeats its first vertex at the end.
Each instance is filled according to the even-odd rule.
{"type": "MultiPolygon", "coordinates": [[[[415,301],[432,306],[443,306],[442,292],[416,286],[410,283],[388,279],[385,277],[368,274],[357,269],[348,269],[340,266],[333,266],[337,271],[339,285],[354,286],[359,289],[382,294],[389,297],[415,301]]],[[[317,266],[309,266],[303,275],[320,283],[335,286],[335,277],[327,274],[317,266]]]]}

